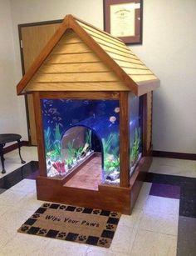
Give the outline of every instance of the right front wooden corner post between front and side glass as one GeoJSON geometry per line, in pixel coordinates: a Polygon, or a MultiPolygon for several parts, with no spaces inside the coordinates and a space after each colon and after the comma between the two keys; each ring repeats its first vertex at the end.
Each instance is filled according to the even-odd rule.
{"type": "Polygon", "coordinates": [[[120,187],[130,186],[130,104],[129,93],[120,92],[120,187]]]}

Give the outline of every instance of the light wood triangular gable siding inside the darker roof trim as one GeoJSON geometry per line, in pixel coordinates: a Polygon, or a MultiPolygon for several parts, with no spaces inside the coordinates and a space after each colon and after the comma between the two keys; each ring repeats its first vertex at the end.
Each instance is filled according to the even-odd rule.
{"type": "Polygon", "coordinates": [[[72,29],[66,30],[25,88],[26,92],[98,89],[129,90],[72,29]]]}

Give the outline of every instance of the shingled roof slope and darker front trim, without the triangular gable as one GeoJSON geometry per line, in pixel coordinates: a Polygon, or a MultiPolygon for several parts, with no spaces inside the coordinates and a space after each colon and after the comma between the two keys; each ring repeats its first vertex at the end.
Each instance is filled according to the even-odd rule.
{"type": "Polygon", "coordinates": [[[115,38],[79,18],[67,14],[46,47],[43,48],[22,80],[17,84],[17,94],[25,93],[27,83],[37,73],[67,29],[72,29],[135,95],[140,96],[159,86],[159,79],[145,67],[119,38],[115,38]]]}

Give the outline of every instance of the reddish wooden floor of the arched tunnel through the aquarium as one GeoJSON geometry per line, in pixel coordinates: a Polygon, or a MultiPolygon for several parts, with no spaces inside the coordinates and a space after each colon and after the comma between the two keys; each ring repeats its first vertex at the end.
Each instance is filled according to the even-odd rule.
{"type": "Polygon", "coordinates": [[[81,170],[65,183],[66,187],[98,190],[101,183],[101,157],[92,158],[81,170]]]}

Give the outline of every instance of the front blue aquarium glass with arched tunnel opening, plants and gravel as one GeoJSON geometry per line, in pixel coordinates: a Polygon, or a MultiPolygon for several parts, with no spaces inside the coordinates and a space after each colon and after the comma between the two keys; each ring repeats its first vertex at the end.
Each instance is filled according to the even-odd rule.
{"type": "Polygon", "coordinates": [[[62,178],[94,154],[102,183],[120,183],[119,100],[42,99],[47,177],[62,178]]]}

